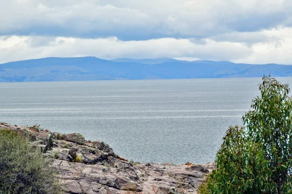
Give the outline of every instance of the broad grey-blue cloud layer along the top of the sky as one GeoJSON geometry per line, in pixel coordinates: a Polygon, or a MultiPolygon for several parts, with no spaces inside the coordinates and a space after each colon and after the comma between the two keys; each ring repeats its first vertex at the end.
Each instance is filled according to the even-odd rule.
{"type": "Polygon", "coordinates": [[[289,0],[0,0],[1,35],[208,38],[290,25],[289,0]],[[289,5],[289,6],[288,6],[289,5]]]}

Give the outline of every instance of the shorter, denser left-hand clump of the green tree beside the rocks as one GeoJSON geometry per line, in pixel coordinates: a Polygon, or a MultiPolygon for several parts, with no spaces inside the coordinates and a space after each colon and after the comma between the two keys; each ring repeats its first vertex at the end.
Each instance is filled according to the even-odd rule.
{"type": "Polygon", "coordinates": [[[259,146],[247,138],[244,128],[230,127],[217,153],[217,168],[202,184],[201,194],[261,194],[269,179],[267,160],[259,146]]]}

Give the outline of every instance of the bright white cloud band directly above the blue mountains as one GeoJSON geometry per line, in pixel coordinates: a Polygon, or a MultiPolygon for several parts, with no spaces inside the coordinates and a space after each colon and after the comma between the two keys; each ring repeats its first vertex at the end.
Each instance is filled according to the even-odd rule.
{"type": "Polygon", "coordinates": [[[117,37],[0,36],[0,63],[43,57],[95,56],[102,59],[170,57],[292,64],[292,28],[282,27],[243,35],[239,33],[239,38],[237,35],[231,35],[228,41],[219,36],[205,38],[202,39],[204,44],[185,38],[123,41],[117,37]],[[254,41],[247,45],[245,39],[254,41]]]}

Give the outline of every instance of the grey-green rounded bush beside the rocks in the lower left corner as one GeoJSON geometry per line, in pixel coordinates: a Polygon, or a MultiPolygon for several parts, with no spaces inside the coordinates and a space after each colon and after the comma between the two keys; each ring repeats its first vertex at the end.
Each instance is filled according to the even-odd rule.
{"type": "Polygon", "coordinates": [[[0,194],[60,194],[54,170],[39,148],[11,130],[0,130],[0,194]]]}

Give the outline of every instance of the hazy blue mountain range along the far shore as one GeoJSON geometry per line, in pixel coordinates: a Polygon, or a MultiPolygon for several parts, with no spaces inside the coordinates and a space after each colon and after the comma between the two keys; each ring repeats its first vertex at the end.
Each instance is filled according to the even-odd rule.
{"type": "Polygon", "coordinates": [[[0,64],[0,82],[292,77],[292,65],[180,61],[170,58],[43,58],[0,64]]]}

